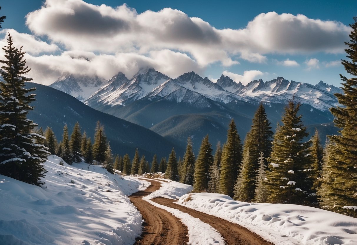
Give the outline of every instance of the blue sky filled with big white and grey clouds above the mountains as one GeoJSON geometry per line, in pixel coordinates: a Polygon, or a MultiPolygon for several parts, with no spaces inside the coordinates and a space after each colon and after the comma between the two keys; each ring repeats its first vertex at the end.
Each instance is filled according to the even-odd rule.
{"type": "Polygon", "coordinates": [[[44,1],[1,3],[0,14],[7,18],[0,37],[5,29],[14,29],[10,31],[14,39],[25,42],[19,44],[27,48],[30,75],[37,82],[50,84],[62,72],[110,79],[121,70],[130,78],[141,66],[153,66],[171,77],[194,70],[212,80],[221,74],[243,83],[283,76],[340,86],[339,74],[345,74],[339,62],[345,58],[343,41],[348,40],[347,26],[357,15],[356,1],[72,2],[76,4],[47,0],[47,7],[30,14],[27,24],[25,16],[44,1]],[[124,3],[126,7],[115,11],[124,3]],[[101,4],[108,7],[95,6],[101,4]],[[74,18],[63,18],[69,9],[76,12],[74,18]],[[87,28],[90,16],[93,27],[87,28]]]}

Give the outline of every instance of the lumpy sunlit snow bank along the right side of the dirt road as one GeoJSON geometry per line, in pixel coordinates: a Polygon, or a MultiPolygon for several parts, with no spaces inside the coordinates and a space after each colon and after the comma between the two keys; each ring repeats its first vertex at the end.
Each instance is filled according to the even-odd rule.
{"type": "Polygon", "coordinates": [[[245,226],[276,245],[357,244],[357,219],[314,207],[247,203],[212,193],[183,195],[177,203],[245,226]]]}

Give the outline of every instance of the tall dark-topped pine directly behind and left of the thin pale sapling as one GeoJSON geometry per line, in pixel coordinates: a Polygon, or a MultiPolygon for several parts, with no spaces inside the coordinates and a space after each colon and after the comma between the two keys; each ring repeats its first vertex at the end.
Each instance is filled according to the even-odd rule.
{"type": "MultiPolygon", "coordinates": [[[[273,131],[267,119],[264,106],[261,103],[255,112],[251,130],[248,132],[244,142],[243,155],[246,157],[244,157],[240,172],[241,187],[239,190],[236,190],[239,192],[239,195],[236,196],[237,200],[251,202],[254,198],[259,155],[262,151],[264,156],[270,156],[272,137],[273,131]]],[[[265,164],[267,165],[266,160],[265,164]]]]}

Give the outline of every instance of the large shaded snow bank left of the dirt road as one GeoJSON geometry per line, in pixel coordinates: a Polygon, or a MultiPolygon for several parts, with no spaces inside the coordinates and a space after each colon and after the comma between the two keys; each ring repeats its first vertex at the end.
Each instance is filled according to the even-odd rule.
{"type": "Polygon", "coordinates": [[[133,244],[142,217],[125,195],[142,184],[60,160],[49,156],[42,187],[0,175],[0,244],[133,244]]]}

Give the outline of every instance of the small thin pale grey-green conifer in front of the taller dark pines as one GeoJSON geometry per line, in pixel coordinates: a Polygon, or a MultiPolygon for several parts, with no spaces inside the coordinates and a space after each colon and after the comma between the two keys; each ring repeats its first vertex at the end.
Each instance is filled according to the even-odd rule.
{"type": "Polygon", "coordinates": [[[264,161],[264,153],[261,151],[259,156],[259,168],[257,169],[257,181],[255,182],[255,196],[253,201],[266,202],[268,198],[268,190],[266,187],[266,167],[264,161]]]}

